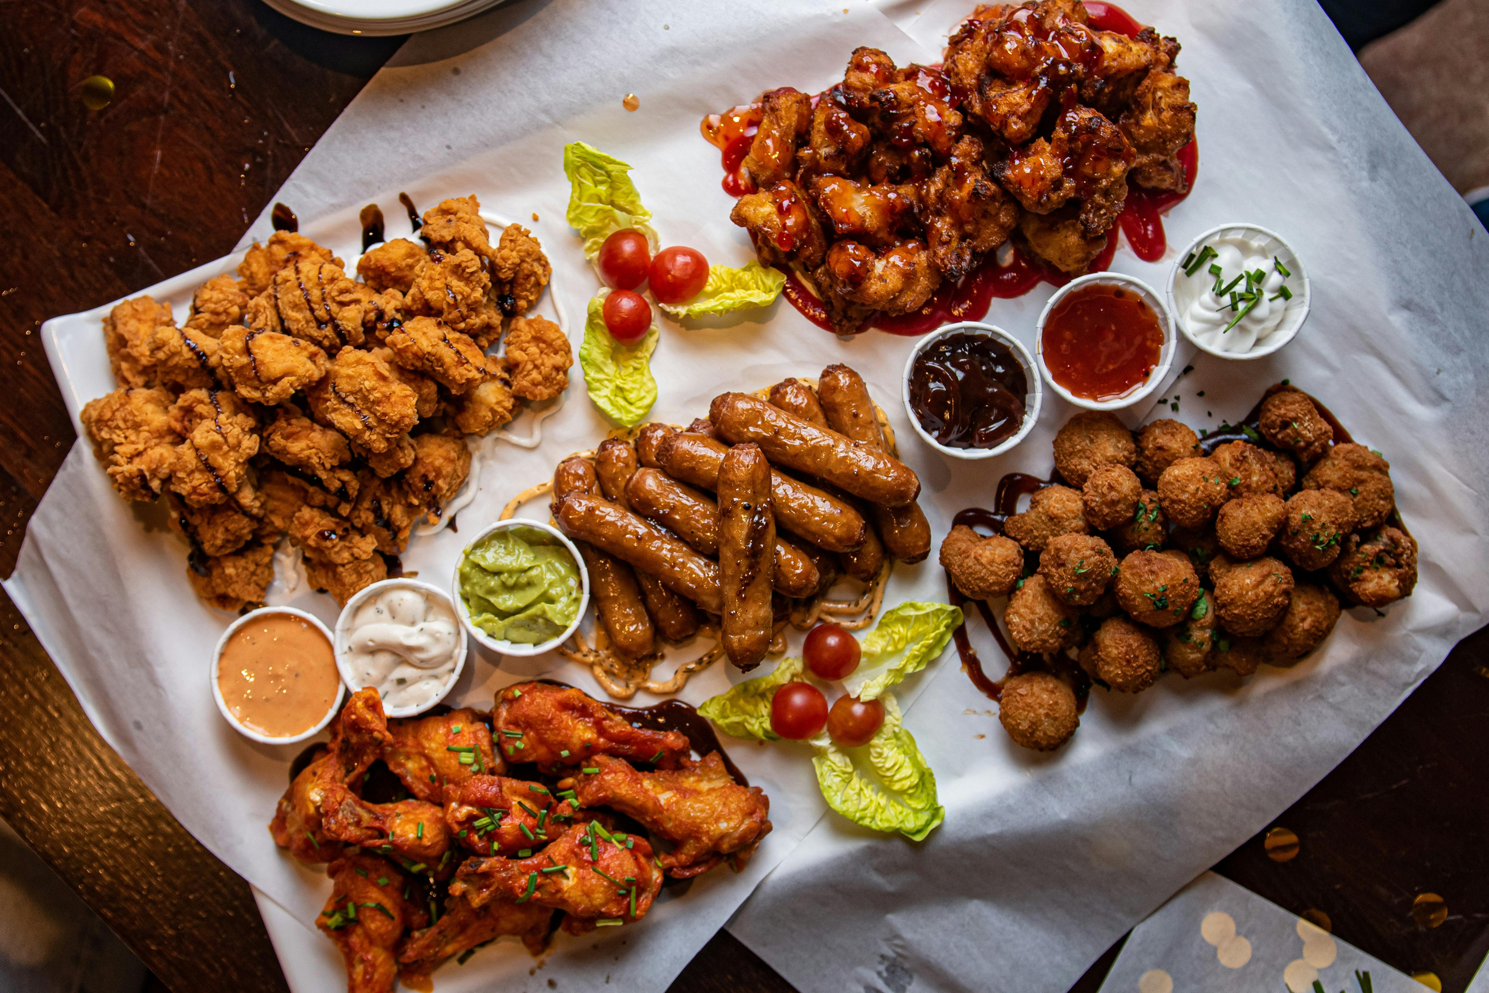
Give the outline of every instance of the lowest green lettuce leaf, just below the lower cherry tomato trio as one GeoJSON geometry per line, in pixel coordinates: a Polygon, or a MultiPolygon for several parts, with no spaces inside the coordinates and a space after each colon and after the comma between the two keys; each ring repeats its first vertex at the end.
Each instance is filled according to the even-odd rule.
{"type": "Polygon", "coordinates": [[[817,786],[828,807],[853,823],[922,841],[946,819],[937,802],[935,773],[905,731],[893,694],[879,700],[884,727],[864,747],[844,749],[826,731],[812,738],[817,786]]]}

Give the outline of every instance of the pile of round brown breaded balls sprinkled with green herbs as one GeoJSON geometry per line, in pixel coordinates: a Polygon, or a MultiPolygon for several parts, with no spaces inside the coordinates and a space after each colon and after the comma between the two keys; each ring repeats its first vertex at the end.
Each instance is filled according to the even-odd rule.
{"type": "Polygon", "coordinates": [[[1135,438],[1109,412],[1077,414],[1054,439],[1063,484],[1035,493],[1002,534],[947,534],[951,582],[974,600],[1008,597],[1017,668],[1036,670],[1002,686],[1014,741],[1048,750],[1075,732],[1062,658],[1117,692],[1167,670],[1249,676],[1316,649],[1342,604],[1412,596],[1416,539],[1380,453],[1336,444],[1313,399],[1286,384],[1267,390],[1245,433],[1211,448],[1175,420],[1135,438]]]}

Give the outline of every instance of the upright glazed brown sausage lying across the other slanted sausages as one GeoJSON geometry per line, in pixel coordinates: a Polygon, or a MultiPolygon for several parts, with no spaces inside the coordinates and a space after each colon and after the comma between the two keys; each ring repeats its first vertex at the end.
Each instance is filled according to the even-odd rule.
{"type": "Polygon", "coordinates": [[[759,445],[736,445],[719,467],[719,587],[724,654],[740,670],[759,665],[770,649],[774,546],[770,463],[759,445]]]}

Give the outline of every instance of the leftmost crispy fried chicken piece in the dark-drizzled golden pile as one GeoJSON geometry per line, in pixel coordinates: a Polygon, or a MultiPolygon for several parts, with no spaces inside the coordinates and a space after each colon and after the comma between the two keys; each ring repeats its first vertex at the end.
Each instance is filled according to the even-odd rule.
{"type": "Polygon", "coordinates": [[[171,403],[174,397],[158,387],[119,387],[82,409],[94,454],[125,500],[153,500],[170,479],[182,441],[171,427],[171,403]]]}

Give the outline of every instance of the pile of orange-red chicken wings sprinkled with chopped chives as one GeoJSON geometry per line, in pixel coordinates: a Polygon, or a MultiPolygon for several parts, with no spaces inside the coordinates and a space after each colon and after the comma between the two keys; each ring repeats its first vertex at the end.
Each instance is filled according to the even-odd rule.
{"type": "Polygon", "coordinates": [[[328,866],[317,925],[345,957],[347,989],[380,993],[399,978],[430,989],[436,966],[500,935],[539,954],[560,926],[634,923],[664,877],[742,869],[768,817],[770,798],[718,752],[694,759],[677,731],[529,682],[499,691],[490,713],[392,721],[375,689],[353,694],[270,832],[328,866]],[[406,798],[362,798],[375,765],[406,798]]]}

